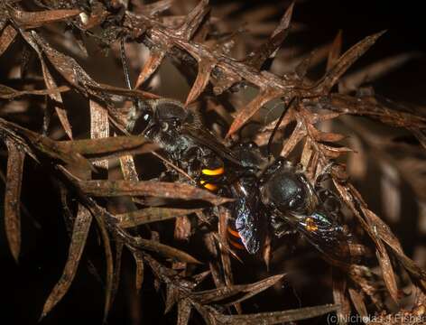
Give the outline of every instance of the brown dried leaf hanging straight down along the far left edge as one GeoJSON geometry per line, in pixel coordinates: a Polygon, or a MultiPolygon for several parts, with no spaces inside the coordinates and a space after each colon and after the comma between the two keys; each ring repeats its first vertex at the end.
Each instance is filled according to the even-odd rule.
{"type": "Polygon", "coordinates": [[[10,139],[7,146],[7,174],[5,182],[5,234],[16,263],[21,251],[21,186],[25,153],[10,139]]]}

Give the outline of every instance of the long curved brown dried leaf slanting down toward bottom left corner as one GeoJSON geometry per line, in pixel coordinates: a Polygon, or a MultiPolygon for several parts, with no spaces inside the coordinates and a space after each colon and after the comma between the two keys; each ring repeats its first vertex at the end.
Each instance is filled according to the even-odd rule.
{"type": "Polygon", "coordinates": [[[88,238],[88,230],[90,228],[91,221],[92,216],[90,212],[80,204],[79,211],[77,213],[76,219],[74,220],[74,226],[72,229],[67,264],[64,267],[60,281],[56,283],[55,287],[51,291],[51,294],[44,303],[41,318],[46,316],[47,313],[50,312],[58,302],[60,302],[65,293],[68,292],[69,286],[74,279],[77,268],[79,266],[79,260],[88,238]]]}

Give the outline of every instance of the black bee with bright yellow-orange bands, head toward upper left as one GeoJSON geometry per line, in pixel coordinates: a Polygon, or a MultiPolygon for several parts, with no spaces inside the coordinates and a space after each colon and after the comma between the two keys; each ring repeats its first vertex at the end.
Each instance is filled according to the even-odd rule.
{"type": "MultiPolygon", "coordinates": [[[[121,58],[125,81],[131,88],[124,40],[121,42],[121,58]]],[[[254,171],[259,164],[250,161],[255,152],[249,153],[251,158],[238,156],[237,150],[233,152],[219,143],[216,136],[201,125],[195,111],[174,99],[134,100],[126,129],[159,144],[171,161],[195,179],[200,187],[236,198],[231,207],[234,227],[228,229],[236,238],[230,242],[234,246],[242,244],[250,254],[260,249],[267,219],[259,209],[260,197],[256,195],[258,179],[254,171]],[[249,164],[253,169],[248,168],[249,164]]]]}

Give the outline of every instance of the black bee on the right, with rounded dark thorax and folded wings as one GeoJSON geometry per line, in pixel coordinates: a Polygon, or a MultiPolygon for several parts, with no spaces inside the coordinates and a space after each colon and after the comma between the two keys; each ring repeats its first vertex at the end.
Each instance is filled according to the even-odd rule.
{"type": "Polygon", "coordinates": [[[319,182],[312,185],[300,168],[277,160],[263,173],[260,193],[275,237],[295,230],[332,262],[354,261],[355,238],[341,224],[338,197],[319,182]]]}

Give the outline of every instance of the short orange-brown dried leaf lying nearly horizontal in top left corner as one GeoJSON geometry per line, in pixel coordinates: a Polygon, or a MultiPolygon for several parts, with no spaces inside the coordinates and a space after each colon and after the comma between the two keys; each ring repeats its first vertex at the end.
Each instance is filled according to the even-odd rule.
{"type": "Polygon", "coordinates": [[[79,9],[59,9],[38,12],[24,12],[14,8],[9,9],[9,14],[14,19],[14,23],[23,29],[37,28],[46,23],[60,22],[80,13],[79,9]]]}

